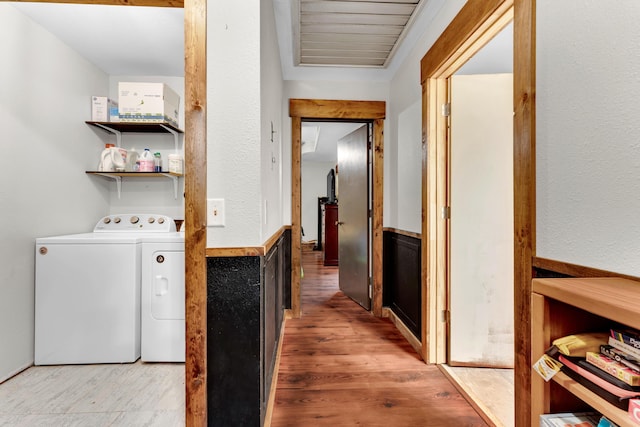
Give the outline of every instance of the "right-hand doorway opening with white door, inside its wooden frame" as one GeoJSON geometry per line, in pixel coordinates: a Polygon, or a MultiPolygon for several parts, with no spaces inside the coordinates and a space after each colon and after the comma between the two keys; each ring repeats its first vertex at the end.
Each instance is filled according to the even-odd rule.
{"type": "Polygon", "coordinates": [[[446,369],[502,426],[514,419],[512,41],[510,24],[448,79],[446,369]]]}

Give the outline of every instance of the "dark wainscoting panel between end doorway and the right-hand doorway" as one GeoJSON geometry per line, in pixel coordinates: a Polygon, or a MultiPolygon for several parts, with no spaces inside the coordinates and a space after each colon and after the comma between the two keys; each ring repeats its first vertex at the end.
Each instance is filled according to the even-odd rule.
{"type": "Polygon", "coordinates": [[[420,239],[385,230],[383,245],[383,304],[420,339],[420,239]]]}

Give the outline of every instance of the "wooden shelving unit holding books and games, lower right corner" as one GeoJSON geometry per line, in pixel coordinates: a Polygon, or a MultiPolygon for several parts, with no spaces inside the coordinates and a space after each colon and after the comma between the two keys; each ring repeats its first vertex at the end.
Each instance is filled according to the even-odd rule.
{"type": "MultiPolygon", "coordinates": [[[[640,329],[640,282],[621,278],[534,279],[532,292],[532,360],[538,360],[554,339],[565,335],[608,330],[616,324],[640,329]]],[[[627,411],[563,373],[549,383],[532,374],[532,426],[539,425],[540,414],[589,407],[620,426],[637,426],[627,411]]]]}

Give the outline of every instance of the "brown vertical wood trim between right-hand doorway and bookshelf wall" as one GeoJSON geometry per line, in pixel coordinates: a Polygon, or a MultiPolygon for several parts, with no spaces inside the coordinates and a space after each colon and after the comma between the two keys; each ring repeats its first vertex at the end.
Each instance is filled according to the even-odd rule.
{"type": "Polygon", "coordinates": [[[514,1],[513,204],[515,425],[531,423],[531,278],[536,230],[535,0],[514,1]]]}

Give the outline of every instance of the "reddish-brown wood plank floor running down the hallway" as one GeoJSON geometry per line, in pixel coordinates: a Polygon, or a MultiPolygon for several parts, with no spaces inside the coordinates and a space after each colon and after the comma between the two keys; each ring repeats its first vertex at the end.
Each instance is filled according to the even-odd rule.
{"type": "Polygon", "coordinates": [[[388,319],[338,289],[335,267],[303,253],[301,319],[285,326],[272,427],[485,426],[388,319]]]}

